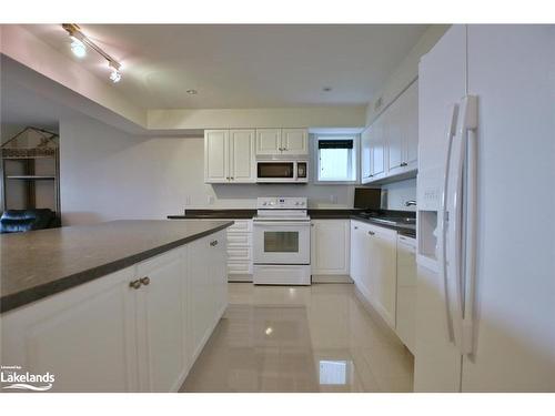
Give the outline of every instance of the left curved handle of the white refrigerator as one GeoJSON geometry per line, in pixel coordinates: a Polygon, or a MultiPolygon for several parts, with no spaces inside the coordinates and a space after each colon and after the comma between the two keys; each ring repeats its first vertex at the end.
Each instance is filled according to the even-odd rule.
{"type": "Polygon", "coordinates": [[[447,282],[447,192],[448,192],[448,181],[450,181],[450,170],[451,170],[451,153],[453,149],[453,138],[456,134],[456,123],[458,106],[453,104],[450,112],[451,118],[448,121],[447,131],[447,152],[445,156],[445,171],[443,175],[443,192],[442,192],[442,234],[441,234],[441,245],[440,245],[440,270],[443,276],[443,288],[445,297],[445,315],[447,319],[447,336],[451,343],[455,342],[454,331],[453,331],[453,315],[451,313],[451,302],[450,302],[450,291],[447,282]]]}

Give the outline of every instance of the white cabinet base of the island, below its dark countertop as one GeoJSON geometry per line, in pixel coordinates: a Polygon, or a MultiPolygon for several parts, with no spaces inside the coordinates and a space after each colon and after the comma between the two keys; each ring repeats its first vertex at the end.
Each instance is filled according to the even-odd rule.
{"type": "Polygon", "coordinates": [[[185,245],[1,315],[2,365],[53,392],[175,392],[226,307],[226,237],[185,245]]]}

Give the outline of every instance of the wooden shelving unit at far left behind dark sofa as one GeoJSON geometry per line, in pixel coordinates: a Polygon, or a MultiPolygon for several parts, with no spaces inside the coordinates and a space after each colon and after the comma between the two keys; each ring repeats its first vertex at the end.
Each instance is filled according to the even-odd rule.
{"type": "Polygon", "coordinates": [[[60,217],[57,133],[26,128],[0,148],[2,211],[49,207],[60,217]]]}

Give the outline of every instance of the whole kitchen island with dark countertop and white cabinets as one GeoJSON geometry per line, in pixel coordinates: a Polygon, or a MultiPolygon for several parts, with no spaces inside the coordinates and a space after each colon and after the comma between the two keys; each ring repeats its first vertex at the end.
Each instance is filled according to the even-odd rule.
{"type": "Polygon", "coordinates": [[[176,390],[226,307],[230,221],[2,235],[1,365],[56,392],[176,390]]]}

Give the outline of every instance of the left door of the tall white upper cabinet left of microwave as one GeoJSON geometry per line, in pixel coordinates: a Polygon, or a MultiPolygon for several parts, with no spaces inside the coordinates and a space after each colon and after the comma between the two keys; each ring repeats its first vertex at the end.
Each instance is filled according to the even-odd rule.
{"type": "Polygon", "coordinates": [[[228,183],[230,177],[229,130],[204,132],[204,182],[228,183]]]}

